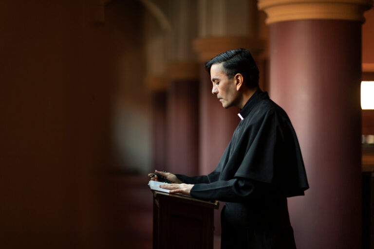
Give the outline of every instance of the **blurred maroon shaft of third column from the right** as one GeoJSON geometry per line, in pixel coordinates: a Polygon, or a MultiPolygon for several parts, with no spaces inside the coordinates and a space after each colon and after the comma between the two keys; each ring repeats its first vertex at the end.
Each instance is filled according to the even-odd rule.
{"type": "MultiPolygon", "coordinates": [[[[168,171],[198,175],[198,80],[173,80],[168,93],[168,171]]],[[[161,168],[159,170],[162,170],[161,168]]]]}

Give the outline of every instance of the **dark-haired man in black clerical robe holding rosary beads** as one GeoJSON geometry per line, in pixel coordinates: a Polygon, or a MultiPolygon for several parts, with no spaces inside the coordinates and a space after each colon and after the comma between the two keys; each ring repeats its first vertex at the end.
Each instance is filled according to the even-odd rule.
{"type": "MultiPolygon", "coordinates": [[[[221,248],[294,249],[287,197],[308,189],[299,142],[284,110],[258,86],[249,51],[221,53],[206,63],[212,93],[242,119],[217,168],[207,176],[158,172],[170,193],[225,201],[221,248]]],[[[157,176],[149,174],[152,180],[157,176]]]]}

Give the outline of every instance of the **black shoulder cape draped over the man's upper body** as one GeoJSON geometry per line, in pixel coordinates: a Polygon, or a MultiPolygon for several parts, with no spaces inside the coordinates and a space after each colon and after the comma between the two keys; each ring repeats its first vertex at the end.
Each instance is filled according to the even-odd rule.
{"type": "Polygon", "coordinates": [[[309,188],[304,163],[284,110],[258,89],[240,114],[243,120],[211,176],[272,183],[287,197],[304,195],[309,188]]]}

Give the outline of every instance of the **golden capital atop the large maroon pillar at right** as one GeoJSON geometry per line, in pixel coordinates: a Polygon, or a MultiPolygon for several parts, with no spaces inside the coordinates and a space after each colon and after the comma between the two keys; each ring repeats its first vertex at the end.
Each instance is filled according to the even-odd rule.
{"type": "Polygon", "coordinates": [[[373,0],[258,0],[266,23],[302,19],[336,19],[364,22],[373,0]]]}

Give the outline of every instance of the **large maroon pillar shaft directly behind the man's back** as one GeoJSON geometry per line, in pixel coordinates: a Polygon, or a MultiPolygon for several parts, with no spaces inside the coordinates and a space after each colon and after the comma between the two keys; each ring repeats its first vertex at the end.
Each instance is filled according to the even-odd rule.
{"type": "Polygon", "coordinates": [[[289,199],[300,249],[361,248],[361,23],[270,25],[271,98],[299,137],[310,189],[289,199]]]}

